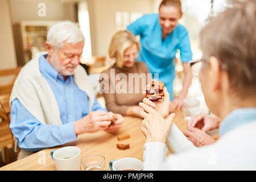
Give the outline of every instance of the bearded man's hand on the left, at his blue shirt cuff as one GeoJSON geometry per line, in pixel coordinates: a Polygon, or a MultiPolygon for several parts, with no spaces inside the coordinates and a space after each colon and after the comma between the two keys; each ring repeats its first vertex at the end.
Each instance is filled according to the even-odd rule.
{"type": "Polygon", "coordinates": [[[106,111],[92,111],[85,117],[74,122],[75,133],[79,135],[108,129],[111,119],[111,116],[107,114],[106,111]]]}

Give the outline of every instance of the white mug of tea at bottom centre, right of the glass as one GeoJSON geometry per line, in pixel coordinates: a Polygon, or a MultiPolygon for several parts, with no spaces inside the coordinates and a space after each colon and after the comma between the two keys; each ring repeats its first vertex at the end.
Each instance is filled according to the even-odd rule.
{"type": "Polygon", "coordinates": [[[113,159],[109,162],[109,168],[111,171],[141,171],[143,163],[136,158],[113,159]]]}

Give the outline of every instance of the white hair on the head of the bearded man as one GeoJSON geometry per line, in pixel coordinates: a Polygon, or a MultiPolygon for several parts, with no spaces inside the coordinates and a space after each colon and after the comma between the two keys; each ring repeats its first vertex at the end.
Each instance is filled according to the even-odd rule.
{"type": "Polygon", "coordinates": [[[66,43],[81,43],[84,42],[84,35],[80,28],[70,21],[60,22],[49,28],[47,34],[47,42],[55,49],[59,49],[63,46],[63,42],[66,43]]]}

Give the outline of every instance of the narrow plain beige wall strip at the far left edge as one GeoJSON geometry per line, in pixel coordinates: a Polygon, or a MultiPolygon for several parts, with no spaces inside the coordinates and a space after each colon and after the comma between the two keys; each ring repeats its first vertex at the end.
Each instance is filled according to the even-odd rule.
{"type": "Polygon", "coordinates": [[[0,1],[0,69],[16,67],[13,28],[8,0],[0,1]]]}

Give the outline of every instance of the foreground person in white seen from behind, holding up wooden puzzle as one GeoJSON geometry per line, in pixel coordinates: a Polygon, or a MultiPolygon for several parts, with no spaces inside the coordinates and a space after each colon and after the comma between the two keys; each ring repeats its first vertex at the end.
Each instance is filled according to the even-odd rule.
{"type": "Polygon", "coordinates": [[[221,120],[220,139],[213,144],[195,147],[172,123],[174,114],[160,114],[147,98],[139,104],[147,138],[144,170],[256,169],[255,31],[255,0],[234,3],[201,31],[199,79],[209,110],[221,120]],[[166,146],[175,153],[167,159],[166,146]]]}

